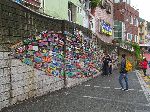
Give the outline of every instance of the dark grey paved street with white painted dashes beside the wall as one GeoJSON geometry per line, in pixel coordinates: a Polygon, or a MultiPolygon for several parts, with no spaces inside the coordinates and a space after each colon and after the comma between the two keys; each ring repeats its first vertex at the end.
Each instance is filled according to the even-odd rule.
{"type": "Polygon", "coordinates": [[[119,90],[118,73],[23,102],[3,112],[150,112],[135,72],[129,91],[119,90]]]}

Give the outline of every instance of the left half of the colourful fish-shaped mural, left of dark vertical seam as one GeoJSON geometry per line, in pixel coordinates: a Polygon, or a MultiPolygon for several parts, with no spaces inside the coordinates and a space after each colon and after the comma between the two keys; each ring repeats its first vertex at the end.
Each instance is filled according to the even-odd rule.
{"type": "Polygon", "coordinates": [[[64,74],[64,37],[62,33],[43,31],[23,38],[23,45],[15,49],[15,57],[50,76],[64,74]]]}

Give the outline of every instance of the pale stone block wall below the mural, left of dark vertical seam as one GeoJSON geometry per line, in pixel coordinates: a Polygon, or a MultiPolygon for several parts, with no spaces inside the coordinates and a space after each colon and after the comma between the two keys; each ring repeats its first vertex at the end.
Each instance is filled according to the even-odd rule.
{"type": "Polygon", "coordinates": [[[23,64],[0,52],[0,109],[64,87],[64,80],[23,64]]]}

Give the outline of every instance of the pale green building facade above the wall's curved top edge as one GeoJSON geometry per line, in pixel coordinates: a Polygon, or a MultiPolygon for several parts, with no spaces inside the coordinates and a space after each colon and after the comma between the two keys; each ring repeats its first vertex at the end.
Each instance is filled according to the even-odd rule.
{"type": "Polygon", "coordinates": [[[89,0],[44,0],[44,13],[89,27],[89,0]]]}

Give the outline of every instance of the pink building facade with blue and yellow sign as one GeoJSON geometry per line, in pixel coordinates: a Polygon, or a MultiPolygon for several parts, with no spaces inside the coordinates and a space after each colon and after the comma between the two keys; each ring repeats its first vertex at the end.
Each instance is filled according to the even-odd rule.
{"type": "MultiPolygon", "coordinates": [[[[111,43],[113,38],[113,0],[101,0],[93,9],[94,32],[102,41],[111,43]]],[[[93,19],[93,18],[92,18],[93,19]]]]}

